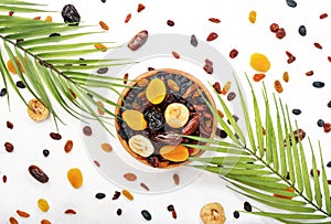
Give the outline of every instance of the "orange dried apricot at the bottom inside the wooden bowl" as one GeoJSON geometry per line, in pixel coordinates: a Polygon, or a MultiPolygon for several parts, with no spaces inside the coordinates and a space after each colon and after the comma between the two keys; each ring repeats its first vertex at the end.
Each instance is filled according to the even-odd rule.
{"type": "Polygon", "coordinates": [[[183,162],[189,159],[189,149],[184,146],[164,146],[160,149],[160,154],[172,162],[183,162]]]}

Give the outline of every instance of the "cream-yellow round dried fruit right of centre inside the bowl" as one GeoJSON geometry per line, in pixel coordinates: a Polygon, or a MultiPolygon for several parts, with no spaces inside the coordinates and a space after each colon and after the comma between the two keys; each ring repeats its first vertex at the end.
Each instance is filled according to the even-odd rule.
{"type": "Polygon", "coordinates": [[[166,122],[172,128],[181,128],[189,120],[190,111],[185,105],[180,103],[170,104],[166,111],[166,122]]]}

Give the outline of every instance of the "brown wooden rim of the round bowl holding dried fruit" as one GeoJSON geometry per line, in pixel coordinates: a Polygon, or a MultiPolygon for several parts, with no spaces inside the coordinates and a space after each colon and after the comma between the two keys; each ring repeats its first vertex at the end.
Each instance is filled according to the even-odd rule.
{"type": "MultiPolygon", "coordinates": [[[[166,72],[166,73],[172,74],[172,75],[174,74],[174,75],[179,75],[179,76],[184,76],[185,78],[192,81],[194,84],[196,84],[199,86],[200,92],[202,94],[204,94],[205,98],[210,102],[210,104],[213,106],[213,108],[216,108],[215,102],[214,102],[212,95],[210,94],[210,92],[207,90],[207,88],[204,86],[204,84],[201,81],[199,81],[196,77],[190,75],[189,73],[185,73],[185,72],[182,72],[182,71],[179,71],[179,70],[173,70],[173,68],[153,70],[153,71],[147,72],[147,73],[138,76],[137,78],[135,78],[135,82],[129,83],[128,87],[122,90],[121,97],[118,98],[117,104],[120,105],[120,106],[124,106],[124,99],[129,94],[129,92],[131,90],[131,87],[135,87],[139,81],[141,81],[143,78],[150,78],[150,77],[157,75],[159,72],[166,72]]],[[[206,108],[207,108],[207,106],[206,106],[206,108]]],[[[143,158],[143,157],[137,154],[136,152],[134,152],[130,149],[128,142],[121,137],[121,135],[119,135],[119,131],[120,131],[121,127],[118,124],[118,116],[120,116],[120,113],[121,113],[121,108],[116,107],[115,115],[116,115],[117,119],[115,119],[115,127],[116,127],[117,136],[118,136],[118,139],[119,139],[120,143],[122,145],[122,147],[126,149],[126,151],[131,157],[134,157],[138,161],[142,162],[145,166],[148,166],[148,167],[152,168],[152,166],[147,161],[147,158],[143,158]]],[[[217,122],[216,122],[216,119],[214,118],[214,116],[212,116],[211,122],[212,122],[212,125],[211,125],[211,132],[210,132],[209,138],[213,138],[215,136],[216,124],[217,122]]],[[[200,157],[203,152],[204,152],[203,150],[200,150],[196,154],[194,154],[194,157],[200,157]]],[[[167,167],[162,167],[162,168],[159,168],[159,169],[172,169],[172,168],[177,168],[181,164],[185,164],[188,162],[189,161],[179,162],[179,163],[170,163],[167,167]]]]}

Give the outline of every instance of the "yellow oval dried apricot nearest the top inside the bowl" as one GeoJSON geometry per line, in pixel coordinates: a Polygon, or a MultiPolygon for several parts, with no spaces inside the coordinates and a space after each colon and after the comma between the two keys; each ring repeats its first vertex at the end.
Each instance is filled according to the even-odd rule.
{"type": "Polygon", "coordinates": [[[166,94],[166,85],[160,78],[152,79],[146,88],[146,97],[152,104],[160,104],[163,102],[166,94]]]}

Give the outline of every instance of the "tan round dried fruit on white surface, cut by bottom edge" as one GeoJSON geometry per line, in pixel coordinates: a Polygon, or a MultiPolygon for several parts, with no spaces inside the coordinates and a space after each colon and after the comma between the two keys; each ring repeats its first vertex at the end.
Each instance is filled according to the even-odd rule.
{"type": "Polygon", "coordinates": [[[205,204],[200,211],[204,224],[223,224],[226,220],[223,206],[217,203],[205,204]]]}

